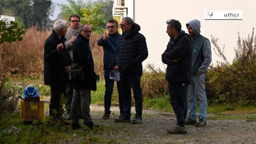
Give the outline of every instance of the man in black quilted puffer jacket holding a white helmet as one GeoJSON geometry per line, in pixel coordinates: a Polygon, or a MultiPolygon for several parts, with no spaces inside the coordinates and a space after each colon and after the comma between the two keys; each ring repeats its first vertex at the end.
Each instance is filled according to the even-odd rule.
{"type": "Polygon", "coordinates": [[[142,76],[142,62],[148,57],[145,37],[139,33],[140,26],[130,17],[122,19],[120,28],[119,47],[116,55],[115,70],[120,72],[121,89],[124,101],[124,113],[115,122],[130,122],[131,116],[131,88],[134,93],[136,115],[132,124],[142,123],[142,90],[140,80],[142,76]]]}

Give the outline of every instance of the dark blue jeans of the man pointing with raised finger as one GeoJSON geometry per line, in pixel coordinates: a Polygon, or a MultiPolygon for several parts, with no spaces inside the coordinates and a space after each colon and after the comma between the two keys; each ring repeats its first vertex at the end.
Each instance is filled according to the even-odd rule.
{"type": "MultiPolygon", "coordinates": [[[[105,95],[104,95],[105,111],[110,111],[113,87],[114,87],[114,82],[115,82],[109,78],[110,71],[111,71],[111,69],[104,70],[105,88],[106,88],[105,95]]],[[[124,111],[124,103],[123,103],[123,95],[122,95],[122,91],[121,91],[120,81],[116,82],[116,84],[117,84],[117,91],[118,91],[119,110],[120,110],[120,112],[123,112],[124,111]]]]}

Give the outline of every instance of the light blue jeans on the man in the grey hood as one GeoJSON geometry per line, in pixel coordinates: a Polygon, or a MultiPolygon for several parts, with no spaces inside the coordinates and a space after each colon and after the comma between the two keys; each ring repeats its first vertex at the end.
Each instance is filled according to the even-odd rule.
{"type": "Polygon", "coordinates": [[[192,83],[188,86],[188,117],[192,120],[196,120],[196,94],[200,103],[199,118],[206,121],[207,117],[207,98],[205,93],[205,74],[200,76],[192,75],[192,83]]]}

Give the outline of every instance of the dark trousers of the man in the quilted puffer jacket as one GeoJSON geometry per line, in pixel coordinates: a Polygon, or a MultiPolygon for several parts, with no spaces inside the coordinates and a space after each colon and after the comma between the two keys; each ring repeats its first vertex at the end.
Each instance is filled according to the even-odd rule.
{"type": "Polygon", "coordinates": [[[124,101],[124,114],[126,115],[129,115],[129,116],[131,115],[131,105],[132,105],[131,88],[134,94],[136,114],[139,116],[142,115],[143,98],[142,98],[142,89],[140,87],[141,76],[142,76],[142,73],[120,74],[121,89],[122,89],[123,101],[124,101]]]}

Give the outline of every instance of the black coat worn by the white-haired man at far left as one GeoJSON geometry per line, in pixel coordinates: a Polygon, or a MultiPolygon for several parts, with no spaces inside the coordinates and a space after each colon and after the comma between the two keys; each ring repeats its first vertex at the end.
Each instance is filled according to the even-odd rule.
{"type": "Polygon", "coordinates": [[[72,60],[65,46],[65,37],[59,36],[52,30],[52,34],[44,43],[44,84],[48,86],[65,86],[69,80],[69,74],[65,67],[70,66],[72,60]],[[64,48],[57,51],[57,45],[62,43],[64,48]]]}

